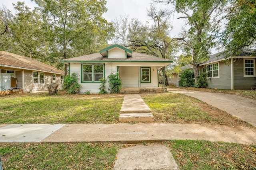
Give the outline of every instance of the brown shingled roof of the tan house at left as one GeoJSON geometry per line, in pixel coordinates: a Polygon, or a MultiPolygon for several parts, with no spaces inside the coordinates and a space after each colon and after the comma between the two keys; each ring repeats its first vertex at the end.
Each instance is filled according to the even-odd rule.
{"type": "Polygon", "coordinates": [[[8,53],[6,51],[0,51],[0,66],[64,75],[63,70],[59,70],[53,66],[49,66],[35,59],[8,53]]]}

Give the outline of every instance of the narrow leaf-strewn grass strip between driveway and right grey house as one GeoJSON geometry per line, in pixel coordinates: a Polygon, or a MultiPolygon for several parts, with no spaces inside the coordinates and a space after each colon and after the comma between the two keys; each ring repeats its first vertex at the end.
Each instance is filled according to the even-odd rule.
{"type": "MultiPolygon", "coordinates": [[[[170,88],[177,88],[176,86],[168,86],[170,88]]],[[[195,87],[179,87],[186,90],[196,90],[201,92],[210,92],[210,93],[226,93],[233,94],[236,96],[242,96],[245,98],[250,98],[256,100],[256,90],[224,90],[224,89],[210,89],[210,88],[195,88],[195,87]]]]}

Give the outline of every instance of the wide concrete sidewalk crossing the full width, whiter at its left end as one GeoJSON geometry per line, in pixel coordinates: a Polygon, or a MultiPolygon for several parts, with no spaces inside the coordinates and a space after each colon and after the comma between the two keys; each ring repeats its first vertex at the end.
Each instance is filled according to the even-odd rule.
{"type": "Polygon", "coordinates": [[[191,139],[256,144],[255,136],[256,130],[247,127],[198,124],[16,124],[0,127],[0,143],[154,143],[191,139]]]}

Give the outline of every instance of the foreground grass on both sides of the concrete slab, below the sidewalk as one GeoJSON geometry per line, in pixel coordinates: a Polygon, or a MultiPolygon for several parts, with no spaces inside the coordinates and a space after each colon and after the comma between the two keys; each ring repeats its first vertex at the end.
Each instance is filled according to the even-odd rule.
{"type": "MultiPolygon", "coordinates": [[[[180,170],[255,170],[256,167],[256,145],[192,140],[173,140],[160,145],[170,149],[180,170]]],[[[132,146],[112,143],[8,144],[0,146],[0,155],[5,170],[107,170],[114,167],[119,149],[132,146]]]]}

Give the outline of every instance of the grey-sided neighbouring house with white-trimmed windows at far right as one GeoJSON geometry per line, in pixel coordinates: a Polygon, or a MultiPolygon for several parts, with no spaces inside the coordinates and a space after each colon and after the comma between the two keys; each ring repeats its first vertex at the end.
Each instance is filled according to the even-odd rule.
{"type": "MultiPolygon", "coordinates": [[[[255,51],[255,49],[244,50],[234,59],[225,59],[225,55],[216,53],[211,55],[208,61],[199,64],[199,72],[205,69],[208,73],[207,88],[249,90],[253,87],[256,83],[256,56],[251,55],[255,51]]],[[[191,64],[186,66],[193,68],[191,64]]],[[[174,80],[178,81],[178,75],[176,73],[174,75],[174,80]]]]}

